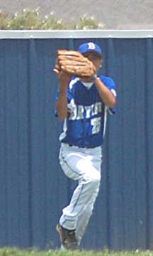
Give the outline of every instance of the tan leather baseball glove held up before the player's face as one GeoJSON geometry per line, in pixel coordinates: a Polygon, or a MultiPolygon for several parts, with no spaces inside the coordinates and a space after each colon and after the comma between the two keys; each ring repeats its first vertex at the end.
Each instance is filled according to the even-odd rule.
{"type": "Polygon", "coordinates": [[[57,60],[54,71],[61,70],[79,78],[91,78],[96,74],[94,64],[75,50],[57,50],[57,60]]]}

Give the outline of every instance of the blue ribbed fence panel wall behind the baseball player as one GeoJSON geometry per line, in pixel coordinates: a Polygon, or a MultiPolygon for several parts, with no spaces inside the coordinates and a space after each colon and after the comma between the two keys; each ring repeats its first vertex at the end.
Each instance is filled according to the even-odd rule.
{"type": "Polygon", "coordinates": [[[82,241],[85,249],[153,249],[153,39],[0,40],[0,246],[58,247],[55,226],[74,188],[58,163],[55,118],[59,48],[94,41],[101,73],[118,87],[108,119],[101,190],[82,241]]]}

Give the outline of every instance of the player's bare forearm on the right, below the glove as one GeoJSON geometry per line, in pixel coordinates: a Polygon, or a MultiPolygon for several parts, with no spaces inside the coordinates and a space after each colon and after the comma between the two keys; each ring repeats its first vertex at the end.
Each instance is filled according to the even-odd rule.
{"type": "Polygon", "coordinates": [[[106,85],[101,82],[99,78],[96,78],[95,85],[98,89],[99,95],[101,96],[101,99],[108,107],[114,107],[116,100],[111,91],[106,87],[106,85]]]}

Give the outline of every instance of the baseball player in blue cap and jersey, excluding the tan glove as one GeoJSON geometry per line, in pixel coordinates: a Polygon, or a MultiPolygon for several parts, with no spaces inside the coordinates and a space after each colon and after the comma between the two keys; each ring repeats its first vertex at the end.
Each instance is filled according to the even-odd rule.
{"type": "Polygon", "coordinates": [[[102,65],[101,48],[89,42],[81,44],[78,51],[91,60],[96,75],[77,78],[64,71],[57,74],[60,85],[56,111],[57,117],[64,120],[60,165],[68,178],[78,181],[57,224],[62,247],[69,250],[79,247],[94,209],[101,181],[101,146],[107,114],[116,102],[113,80],[97,75],[102,65]]]}

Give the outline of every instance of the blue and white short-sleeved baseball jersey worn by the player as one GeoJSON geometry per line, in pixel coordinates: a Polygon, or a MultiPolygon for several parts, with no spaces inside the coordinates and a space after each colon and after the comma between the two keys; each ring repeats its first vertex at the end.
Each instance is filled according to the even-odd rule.
{"type": "MultiPolygon", "coordinates": [[[[113,80],[103,75],[99,78],[115,96],[113,80]]],[[[94,148],[103,143],[108,107],[101,100],[96,86],[93,83],[91,87],[86,85],[79,78],[72,78],[69,82],[68,116],[64,119],[60,141],[83,148],[94,148]]]]}

